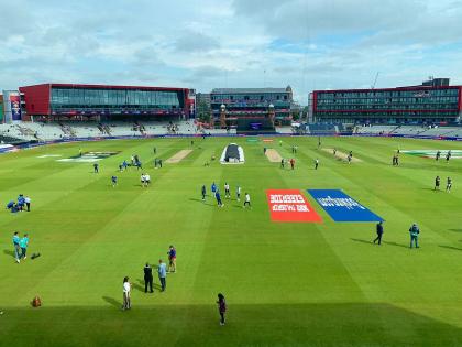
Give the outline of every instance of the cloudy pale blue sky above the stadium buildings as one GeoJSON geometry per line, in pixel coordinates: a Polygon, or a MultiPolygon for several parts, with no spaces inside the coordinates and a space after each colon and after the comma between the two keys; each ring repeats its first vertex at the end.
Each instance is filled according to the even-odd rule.
{"type": "Polygon", "coordinates": [[[0,0],[0,89],[462,84],[461,0],[0,0]]]}

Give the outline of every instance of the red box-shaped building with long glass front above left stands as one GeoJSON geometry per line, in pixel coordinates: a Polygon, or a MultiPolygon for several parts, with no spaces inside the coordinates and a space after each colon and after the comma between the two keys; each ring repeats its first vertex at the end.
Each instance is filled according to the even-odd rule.
{"type": "MultiPolygon", "coordinates": [[[[186,116],[186,88],[45,84],[21,87],[30,116],[186,116]]],[[[194,104],[194,102],[193,102],[194,104]]]]}

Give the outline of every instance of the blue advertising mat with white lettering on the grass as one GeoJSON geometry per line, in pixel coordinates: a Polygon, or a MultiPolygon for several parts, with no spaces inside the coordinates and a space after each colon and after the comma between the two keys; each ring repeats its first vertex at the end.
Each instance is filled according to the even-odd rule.
{"type": "Polygon", "coordinates": [[[308,189],[334,221],[381,221],[383,218],[339,189],[308,189]]]}

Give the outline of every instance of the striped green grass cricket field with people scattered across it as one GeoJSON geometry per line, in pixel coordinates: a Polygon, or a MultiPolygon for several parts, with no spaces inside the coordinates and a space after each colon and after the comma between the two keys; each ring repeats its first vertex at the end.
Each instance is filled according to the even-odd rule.
{"type": "MultiPolygon", "coordinates": [[[[0,200],[32,197],[32,212],[0,213],[1,346],[461,346],[462,161],[436,162],[394,150],[453,149],[462,143],[375,138],[326,138],[324,148],[353,151],[348,165],[317,150],[317,138],[283,138],[268,147],[290,158],[280,170],[263,154],[263,142],[233,139],[244,165],[210,166],[228,139],[195,141],[178,164],[154,170],[153,145],[164,160],[190,148],[189,139],[120,140],[42,147],[0,156],[0,200]],[[82,151],[121,151],[90,163],[56,162],[82,151]],[[140,172],[117,173],[138,153],[140,172]],[[320,169],[314,170],[319,158],[320,169]],[[150,165],[147,164],[150,162],[150,165]],[[436,175],[453,178],[451,194],[432,191],[436,175]],[[224,200],[218,208],[200,187],[212,182],[232,193],[239,183],[252,195],[252,210],[224,200]],[[374,246],[375,225],[333,223],[305,194],[322,224],[272,223],[265,189],[339,188],[386,219],[384,242],[374,246]],[[409,250],[408,228],[421,228],[419,250],[409,250]],[[14,262],[11,236],[28,231],[36,260],[14,262]],[[167,291],[144,294],[146,261],[178,251],[178,272],[167,291]],[[120,310],[122,279],[134,283],[132,311],[120,310]],[[219,325],[218,292],[228,302],[219,325]],[[32,308],[40,295],[43,306],[32,308]]],[[[158,280],[154,276],[156,284],[158,280]]]]}

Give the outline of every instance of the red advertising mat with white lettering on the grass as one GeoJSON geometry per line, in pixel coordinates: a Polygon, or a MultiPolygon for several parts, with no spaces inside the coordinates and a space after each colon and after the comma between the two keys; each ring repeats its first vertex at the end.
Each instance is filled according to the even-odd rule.
{"type": "Polygon", "coordinates": [[[273,221],[322,223],[322,218],[297,189],[266,191],[273,221]]]}

